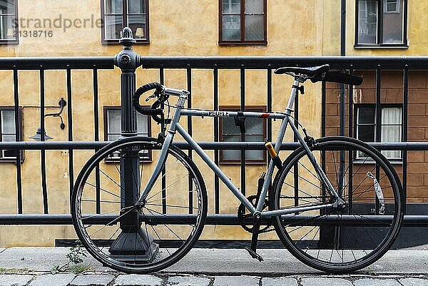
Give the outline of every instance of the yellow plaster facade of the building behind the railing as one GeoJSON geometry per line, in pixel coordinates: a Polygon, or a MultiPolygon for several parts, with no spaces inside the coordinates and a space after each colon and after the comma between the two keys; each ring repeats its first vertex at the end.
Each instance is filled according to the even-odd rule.
{"type": "MultiPolygon", "coordinates": [[[[239,2],[239,1],[238,1],[239,2]]],[[[262,1],[263,2],[263,1],[262,1]]],[[[148,43],[136,44],[134,50],[141,56],[337,56],[340,55],[340,0],[266,0],[265,44],[219,43],[222,1],[216,0],[148,0],[148,43]]],[[[372,55],[425,55],[428,37],[424,35],[424,23],[428,17],[428,2],[404,1],[407,5],[407,48],[355,48],[356,1],[348,0],[346,6],[346,54],[372,55]]],[[[121,50],[120,44],[103,44],[102,27],[105,22],[102,10],[105,3],[87,1],[14,1],[19,20],[19,43],[0,44],[2,57],[34,56],[114,56],[121,50]],[[32,19],[33,21],[29,21],[32,19]],[[39,22],[37,21],[39,19],[39,22]],[[37,23],[49,24],[39,28],[37,23]],[[54,26],[56,19],[61,27],[54,26]],[[66,27],[68,19],[72,26],[66,27]],[[78,19],[78,20],[76,20],[78,19]],[[21,21],[22,20],[22,21],[21,21]],[[87,21],[85,21],[87,20],[87,21]],[[86,23],[87,26],[83,27],[86,23]],[[77,24],[77,25],[76,25],[77,24]],[[39,36],[29,36],[31,31],[42,30],[39,36]],[[27,34],[24,34],[27,31],[27,34]],[[49,34],[51,32],[51,34],[49,34]]],[[[147,24],[147,23],[146,23],[147,24]]],[[[59,25],[58,25],[59,26],[59,25]]],[[[145,35],[146,36],[146,35],[145,35]]],[[[1,61],[1,58],[0,58],[1,61]]],[[[144,66],[143,66],[144,68],[144,66]]],[[[137,86],[159,81],[159,71],[138,68],[137,86]]],[[[213,71],[193,69],[192,106],[213,108],[213,71]]],[[[98,71],[99,124],[93,121],[92,71],[71,71],[73,106],[73,141],[93,141],[98,128],[101,141],[105,133],[104,108],[120,106],[120,70],[98,71]]],[[[186,88],[185,70],[165,69],[165,85],[186,88]]],[[[285,108],[291,81],[286,76],[272,76],[273,110],[285,108]]],[[[245,71],[245,106],[266,106],[267,74],[263,70],[245,71]]],[[[320,136],[321,91],[320,83],[307,84],[307,95],[300,98],[300,123],[314,137],[320,136]]],[[[219,106],[240,106],[240,71],[220,70],[218,74],[219,106]]],[[[0,106],[14,106],[12,71],[0,71],[0,106]]],[[[66,71],[45,71],[46,113],[58,110],[58,100],[66,98],[66,71]]],[[[39,126],[40,81],[39,71],[19,71],[19,105],[22,113],[22,137],[31,141],[39,126]]],[[[63,113],[67,117],[67,111],[63,113]]],[[[46,132],[54,141],[67,141],[68,122],[61,130],[57,118],[46,118],[46,132]]],[[[186,126],[185,119],[182,122],[186,126]]],[[[279,123],[272,126],[275,136],[279,123]]],[[[151,136],[158,133],[156,123],[151,123],[151,136]]],[[[213,119],[194,118],[193,138],[196,141],[213,141],[213,119]]],[[[287,132],[287,141],[292,135],[287,132]]],[[[179,139],[178,139],[179,141],[179,139]]],[[[75,177],[93,151],[74,151],[75,177]]],[[[213,151],[208,151],[213,158],[213,151]]],[[[285,158],[285,154],[282,155],[285,158]]],[[[47,190],[49,213],[69,213],[68,150],[47,150],[47,190]]],[[[21,164],[23,213],[43,213],[40,176],[40,151],[25,150],[21,164]]],[[[195,156],[195,163],[203,173],[208,190],[209,213],[214,213],[214,175],[195,156]]],[[[240,165],[221,165],[222,170],[239,186],[240,165]]],[[[256,192],[257,179],[266,165],[246,165],[247,194],[256,192]]],[[[17,210],[16,165],[0,162],[0,202],[3,214],[17,210]]],[[[220,183],[220,213],[236,213],[238,200],[220,183]]],[[[55,240],[75,239],[71,225],[55,226],[0,226],[0,247],[15,245],[54,245],[55,240]]],[[[240,227],[205,227],[202,239],[249,239],[250,235],[240,227]]],[[[275,238],[274,233],[262,238],[275,238]]]]}

